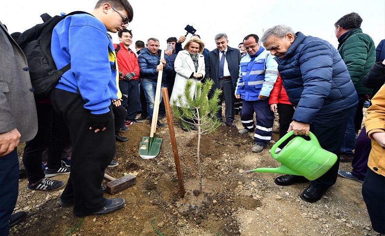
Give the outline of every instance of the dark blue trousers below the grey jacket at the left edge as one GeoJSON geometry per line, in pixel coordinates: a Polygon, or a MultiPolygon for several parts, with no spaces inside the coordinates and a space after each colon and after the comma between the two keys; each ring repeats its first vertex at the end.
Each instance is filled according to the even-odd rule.
{"type": "Polygon", "coordinates": [[[0,186],[0,236],[7,236],[9,218],[15,208],[19,191],[19,159],[16,148],[0,157],[0,186]]]}

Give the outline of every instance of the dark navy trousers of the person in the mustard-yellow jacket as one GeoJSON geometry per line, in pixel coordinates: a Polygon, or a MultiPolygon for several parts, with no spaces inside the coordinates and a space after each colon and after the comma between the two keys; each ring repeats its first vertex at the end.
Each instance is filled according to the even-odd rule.
{"type": "Polygon", "coordinates": [[[385,176],[368,168],[362,184],[362,196],[373,230],[385,234],[385,176]]]}

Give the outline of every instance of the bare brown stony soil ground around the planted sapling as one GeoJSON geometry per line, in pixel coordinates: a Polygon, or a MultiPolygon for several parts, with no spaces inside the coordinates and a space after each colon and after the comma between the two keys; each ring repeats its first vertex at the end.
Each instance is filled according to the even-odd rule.
{"type": "MultiPolygon", "coordinates": [[[[235,124],[241,128],[239,116],[235,124]]],[[[163,122],[166,122],[163,119],[163,122]]],[[[70,236],[308,236],[308,235],[376,235],[371,229],[361,195],[361,183],[338,178],[325,196],[316,203],[300,200],[308,183],[278,186],[278,174],[250,173],[243,170],[259,166],[278,166],[270,157],[271,144],[262,153],[251,152],[252,136],[241,135],[235,128],[220,127],[203,136],[203,193],[198,189],[196,135],[175,126],[186,195],[179,198],[173,151],[167,127],[157,130],[163,138],[160,154],[152,160],[138,155],[138,144],[148,136],[147,123],[134,124],[124,136],[129,142],[117,143],[116,168],[106,173],[121,177],[137,175],[136,185],[106,198],[119,197],[126,205],[111,214],[85,217],[70,236]]],[[[273,140],[277,140],[274,134],[273,140]]],[[[19,146],[21,157],[22,145],[19,146]]],[[[22,165],[21,159],[20,163],[22,165]]],[[[340,168],[350,170],[350,163],[340,168]]],[[[66,176],[53,179],[66,181],[66,176]]],[[[27,211],[28,217],[11,229],[10,235],[60,236],[74,228],[82,218],[75,217],[72,207],[60,207],[62,190],[30,191],[26,180],[19,182],[19,199],[15,211],[27,211]]]]}

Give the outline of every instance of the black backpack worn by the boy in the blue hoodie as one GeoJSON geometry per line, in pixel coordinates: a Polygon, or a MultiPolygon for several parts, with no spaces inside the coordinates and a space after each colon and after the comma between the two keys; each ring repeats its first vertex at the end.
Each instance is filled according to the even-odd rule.
{"type": "Polygon", "coordinates": [[[70,63],[58,70],[51,54],[51,38],[58,22],[75,14],[89,13],[76,11],[54,17],[45,13],[40,16],[44,23],[37,24],[21,34],[19,32],[11,34],[27,58],[34,95],[38,100],[48,97],[58,84],[61,75],[71,68],[70,63]]]}

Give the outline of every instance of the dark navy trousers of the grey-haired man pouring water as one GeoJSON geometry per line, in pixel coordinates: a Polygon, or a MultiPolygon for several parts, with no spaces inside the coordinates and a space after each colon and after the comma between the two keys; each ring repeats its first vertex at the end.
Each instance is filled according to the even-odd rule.
{"type": "Polygon", "coordinates": [[[341,144],[348,119],[355,110],[353,107],[332,114],[316,115],[310,124],[310,131],[317,137],[321,147],[337,155],[337,162],[323,176],[312,181],[313,186],[326,190],[336,182],[341,144]]]}

